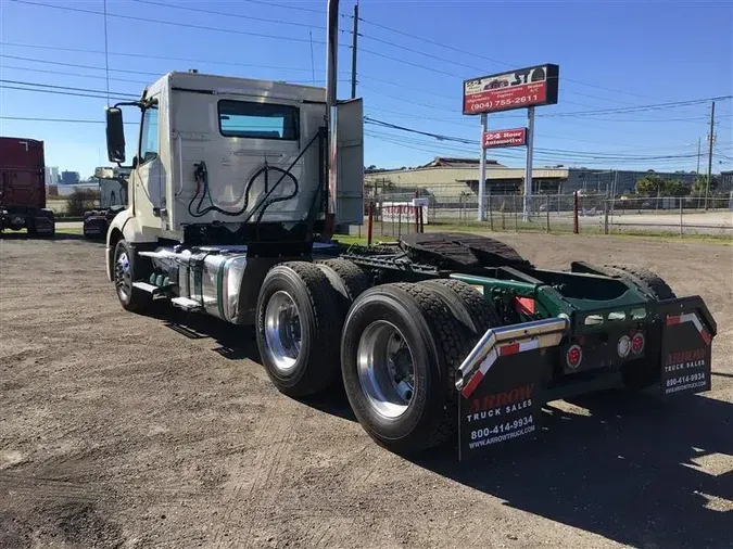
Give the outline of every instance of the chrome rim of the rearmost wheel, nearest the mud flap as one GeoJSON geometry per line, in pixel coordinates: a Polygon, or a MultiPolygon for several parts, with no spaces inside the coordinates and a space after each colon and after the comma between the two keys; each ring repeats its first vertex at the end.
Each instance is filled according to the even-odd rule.
{"type": "Polygon", "coordinates": [[[356,350],[358,380],[371,408],[395,419],[415,397],[415,360],[402,332],[386,320],[366,327],[356,350]]]}

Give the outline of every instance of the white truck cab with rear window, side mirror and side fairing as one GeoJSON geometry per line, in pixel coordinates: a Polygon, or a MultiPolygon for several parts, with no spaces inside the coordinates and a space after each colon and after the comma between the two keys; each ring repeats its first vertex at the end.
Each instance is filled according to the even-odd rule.
{"type": "MultiPolygon", "coordinates": [[[[307,244],[326,228],[329,199],[336,199],[332,222],[362,222],[361,100],[336,106],[336,189],[326,184],[323,88],[173,72],[136,105],[129,207],[108,232],[110,260],[121,238],[143,245],[307,244]]],[[[125,162],[122,111],[110,108],[108,120],[111,159],[125,162]]]]}

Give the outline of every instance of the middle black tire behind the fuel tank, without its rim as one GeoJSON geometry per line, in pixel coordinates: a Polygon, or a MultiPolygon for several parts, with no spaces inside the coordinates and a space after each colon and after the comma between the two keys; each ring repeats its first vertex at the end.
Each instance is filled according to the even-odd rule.
{"type": "Polygon", "coordinates": [[[338,380],[339,342],[346,310],[326,274],[311,263],[285,263],[267,272],[257,297],[256,339],[262,362],[278,391],[304,397],[338,380]],[[287,368],[278,363],[281,353],[268,343],[266,333],[267,305],[278,292],[294,303],[300,318],[300,350],[287,368]]]}

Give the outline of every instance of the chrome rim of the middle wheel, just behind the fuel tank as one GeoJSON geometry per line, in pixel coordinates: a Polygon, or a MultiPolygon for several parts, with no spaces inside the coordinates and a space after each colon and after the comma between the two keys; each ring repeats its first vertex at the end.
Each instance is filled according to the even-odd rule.
{"type": "Polygon", "coordinates": [[[289,373],[301,353],[303,324],[298,305],[288,292],[278,291],[265,308],[266,353],[275,368],[289,373]]]}

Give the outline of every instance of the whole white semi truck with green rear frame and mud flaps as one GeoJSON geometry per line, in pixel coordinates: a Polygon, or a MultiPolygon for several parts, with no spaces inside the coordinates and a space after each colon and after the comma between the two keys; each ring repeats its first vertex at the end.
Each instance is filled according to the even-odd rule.
{"type": "Polygon", "coordinates": [[[462,456],[480,454],[536,434],[543,403],[603,386],[709,388],[715,321],[643,269],[543,270],[455,233],[334,244],[334,226],[364,213],[362,100],[337,101],[337,22],[330,0],[325,89],[191,71],[108,108],[121,166],[122,107],[141,120],[129,204],[106,233],[125,309],[163,299],[253,324],[280,392],[342,382],[395,451],[458,431],[462,456]],[[690,353],[686,378],[662,369],[690,353]]]}

